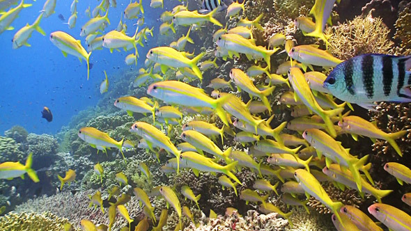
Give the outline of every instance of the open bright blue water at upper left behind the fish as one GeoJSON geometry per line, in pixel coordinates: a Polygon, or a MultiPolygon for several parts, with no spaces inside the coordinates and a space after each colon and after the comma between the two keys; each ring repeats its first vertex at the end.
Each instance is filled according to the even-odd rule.
{"type": "MultiPolygon", "coordinates": [[[[90,62],[93,68],[90,70],[90,79],[87,81],[86,62],[80,63],[75,56],[63,56],[60,49],[55,47],[49,40],[50,33],[54,31],[64,31],[74,38],[82,40],[82,45],[86,47],[85,37],[80,37],[80,29],[88,21],[85,10],[90,6],[91,10],[100,4],[100,1],[82,1],[77,3],[77,23],[75,28],[69,29],[67,24],[70,17],[70,5],[72,1],[57,1],[56,13],[43,18],[40,26],[46,32],[46,36],[34,31],[29,44],[31,47],[20,47],[12,49],[13,35],[26,23],[32,24],[38,15],[45,1],[25,1],[33,6],[24,8],[11,24],[13,31],[4,31],[0,34],[0,70],[1,70],[1,91],[0,91],[0,134],[14,125],[21,125],[29,132],[36,134],[55,134],[59,132],[61,126],[67,125],[70,118],[88,106],[94,106],[101,95],[99,92],[100,83],[104,80],[104,72],[107,71],[109,81],[114,83],[116,78],[121,78],[118,74],[124,69],[137,70],[144,65],[148,49],[154,47],[159,36],[158,22],[160,13],[164,10],[150,8],[149,1],[143,1],[145,10],[145,24],[151,28],[154,37],[148,37],[145,47],[139,47],[140,58],[137,67],[127,66],[125,56],[133,51],[114,51],[109,49],[93,51],[90,62]],[[65,22],[59,19],[59,14],[63,15],[65,22]],[[110,79],[115,75],[114,79],[110,79]],[[53,113],[53,121],[47,122],[41,118],[43,106],[49,107],[53,113]]],[[[120,21],[121,12],[130,1],[117,1],[117,8],[109,8],[109,20],[111,24],[107,26],[103,33],[116,29],[120,21]]],[[[176,6],[179,2],[173,2],[176,6]]],[[[15,6],[13,6],[15,7],[15,6]]],[[[169,8],[171,8],[170,6],[169,8]]],[[[166,8],[166,6],[164,6],[166,8]]],[[[127,24],[127,34],[133,35],[137,26],[137,19],[124,19],[127,24]]],[[[144,27],[143,26],[143,27],[144,27]]]]}

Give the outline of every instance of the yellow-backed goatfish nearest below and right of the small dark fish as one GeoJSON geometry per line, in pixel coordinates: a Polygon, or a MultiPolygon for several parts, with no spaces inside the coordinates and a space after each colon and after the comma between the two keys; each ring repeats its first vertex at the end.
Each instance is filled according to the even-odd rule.
{"type": "MultiPolygon", "coordinates": [[[[78,132],[79,138],[83,141],[86,141],[91,147],[97,148],[98,150],[102,150],[103,152],[107,152],[106,148],[118,148],[121,154],[123,155],[123,159],[125,161],[125,157],[123,154],[123,141],[116,141],[114,138],[111,138],[109,134],[105,132],[101,132],[94,127],[82,127],[78,132]]],[[[126,162],[126,161],[125,161],[126,162]]]]}

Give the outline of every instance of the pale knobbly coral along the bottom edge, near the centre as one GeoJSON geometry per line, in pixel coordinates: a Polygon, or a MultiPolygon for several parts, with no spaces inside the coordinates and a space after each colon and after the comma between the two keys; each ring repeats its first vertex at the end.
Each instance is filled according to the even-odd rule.
{"type": "Polygon", "coordinates": [[[230,231],[230,230],[249,230],[249,231],[281,231],[288,224],[287,220],[279,218],[276,213],[258,214],[254,210],[247,211],[247,216],[240,216],[234,211],[231,216],[221,216],[210,218],[207,224],[201,224],[198,228],[191,223],[185,231],[230,231]]]}

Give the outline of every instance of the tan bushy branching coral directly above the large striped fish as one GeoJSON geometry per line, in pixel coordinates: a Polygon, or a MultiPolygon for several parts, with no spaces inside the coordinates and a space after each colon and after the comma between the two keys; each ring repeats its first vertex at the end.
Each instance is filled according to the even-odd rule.
{"type": "Polygon", "coordinates": [[[382,19],[370,16],[328,27],[325,33],[331,35],[328,41],[332,54],[342,60],[366,53],[389,54],[394,45],[382,19]]]}

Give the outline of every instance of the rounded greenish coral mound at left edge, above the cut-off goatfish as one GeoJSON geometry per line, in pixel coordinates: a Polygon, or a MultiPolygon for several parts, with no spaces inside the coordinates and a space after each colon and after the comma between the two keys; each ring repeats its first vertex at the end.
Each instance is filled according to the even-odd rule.
{"type": "Polygon", "coordinates": [[[23,161],[26,154],[20,150],[20,143],[13,138],[0,136],[0,163],[6,161],[23,161]]]}

